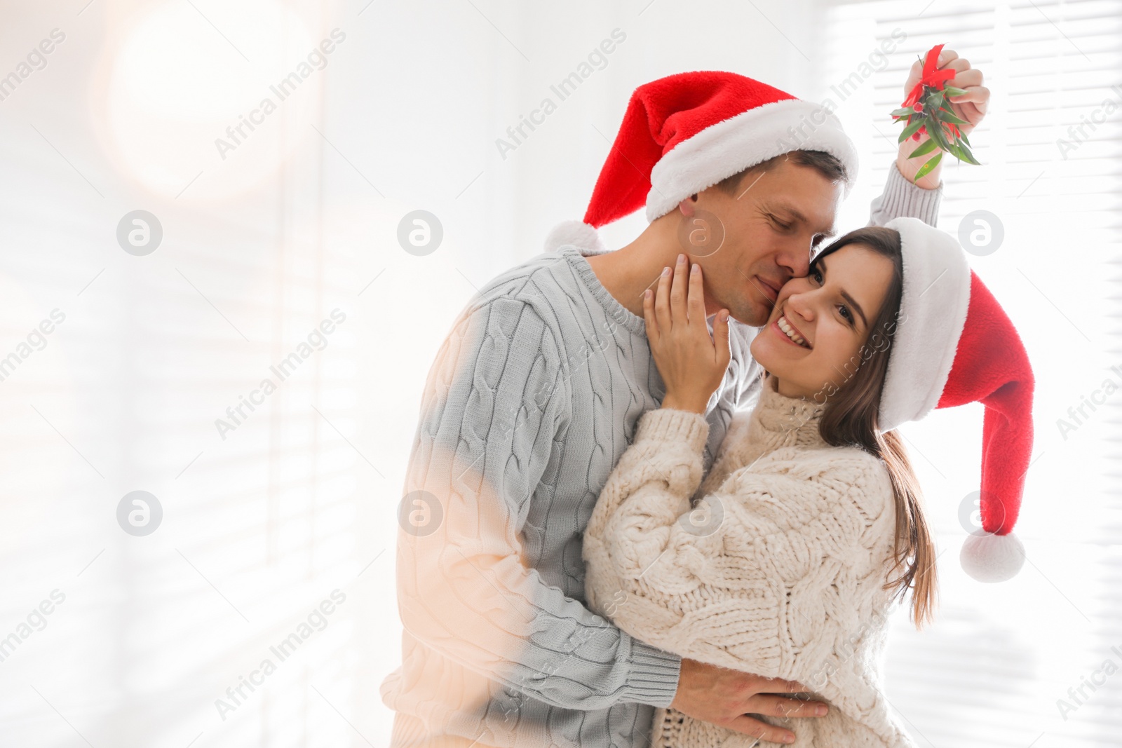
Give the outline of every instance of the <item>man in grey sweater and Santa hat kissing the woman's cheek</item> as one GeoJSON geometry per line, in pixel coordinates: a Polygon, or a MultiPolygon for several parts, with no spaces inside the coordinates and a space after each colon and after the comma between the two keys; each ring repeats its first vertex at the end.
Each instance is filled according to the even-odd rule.
{"type": "MultiPolygon", "coordinates": [[[[988,91],[949,50],[947,66],[973,127],[988,91]]],[[[908,87],[918,80],[917,65],[908,87]]],[[[927,158],[907,158],[921,142],[901,147],[873,223],[935,223],[938,170],[904,177],[927,158]]],[[[855,172],[833,114],[751,79],[683,73],[635,91],[586,224],[555,230],[554,251],[488,284],[430,373],[399,512],[403,664],[381,689],[397,712],[393,746],[643,748],[665,705],[784,742],[790,730],[751,714],[825,713],[790,695],[802,684],[682,661],[588,610],[581,542],[638,417],[663,395],[643,290],[692,260],[707,312],[735,321],[707,412],[708,468],[733,413],[757,395],[754,326],[835,232],[855,172]],[[650,225],[604,252],[592,227],[644,203],[650,225]]]]}

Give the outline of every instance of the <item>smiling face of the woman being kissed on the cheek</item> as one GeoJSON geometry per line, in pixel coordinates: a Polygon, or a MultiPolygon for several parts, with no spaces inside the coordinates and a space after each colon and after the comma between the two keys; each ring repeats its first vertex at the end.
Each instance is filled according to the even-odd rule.
{"type": "Polygon", "coordinates": [[[781,395],[825,403],[856,372],[892,274],[891,259],[854,243],[787,281],[752,341],[752,357],[778,379],[781,395]]]}

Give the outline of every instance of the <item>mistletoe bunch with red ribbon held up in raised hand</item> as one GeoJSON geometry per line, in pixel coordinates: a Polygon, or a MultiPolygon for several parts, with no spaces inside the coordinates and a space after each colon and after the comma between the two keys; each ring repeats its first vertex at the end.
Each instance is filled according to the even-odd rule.
{"type": "Polygon", "coordinates": [[[923,73],[919,83],[904,99],[901,108],[892,112],[892,118],[896,122],[903,121],[905,123],[898,142],[903,142],[908,138],[919,140],[919,137],[925,133],[930,138],[913,150],[908,158],[926,156],[937,149],[939,151],[916,173],[916,182],[927,176],[938,165],[944,151],[960,161],[980,164],[974,158],[974,154],[971,153],[969,139],[958,129],[960,124],[968,124],[968,122],[955,114],[948,101],[950,96],[960,96],[966,92],[947,85],[947,81],[955,77],[955,71],[938,70],[939,53],[942,52],[942,46],[941,44],[936,45],[927,53],[927,57],[922,59],[923,73]]]}

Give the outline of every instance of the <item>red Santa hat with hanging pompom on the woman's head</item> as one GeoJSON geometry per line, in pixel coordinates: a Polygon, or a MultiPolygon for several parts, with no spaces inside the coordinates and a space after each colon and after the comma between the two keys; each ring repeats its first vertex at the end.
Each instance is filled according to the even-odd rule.
{"type": "Polygon", "coordinates": [[[935,408],[985,406],[982,529],[966,538],[959,561],[974,579],[1001,582],[1024,564],[1024,546],[1012,530],[1032,452],[1032,367],[1013,323],[954,237],[911,218],[886,227],[900,232],[903,295],[879,427],[890,431],[935,408]]]}

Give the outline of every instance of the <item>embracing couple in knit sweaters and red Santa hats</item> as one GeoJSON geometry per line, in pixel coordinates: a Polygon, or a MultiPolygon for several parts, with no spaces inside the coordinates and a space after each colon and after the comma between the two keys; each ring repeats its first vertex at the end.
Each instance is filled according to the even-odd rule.
{"type": "MultiPolygon", "coordinates": [[[[981,73],[939,66],[972,128],[981,73]]],[[[985,405],[962,563],[1008,579],[1032,373],[913,148],[827,242],[857,166],[833,114],[732,73],[635,91],[585,222],[488,284],[426,381],[395,748],[916,745],[881,665],[895,606],[931,618],[936,553],[895,428],[985,405]],[[644,206],[607,251],[594,227],[644,206]]]]}

